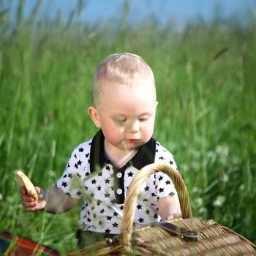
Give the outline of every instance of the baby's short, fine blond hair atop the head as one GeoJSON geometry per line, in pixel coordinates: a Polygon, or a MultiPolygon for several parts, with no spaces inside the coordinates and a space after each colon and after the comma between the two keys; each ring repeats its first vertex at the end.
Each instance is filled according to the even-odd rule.
{"type": "Polygon", "coordinates": [[[140,56],[133,53],[114,53],[104,59],[97,68],[92,85],[94,105],[106,81],[134,86],[138,79],[151,80],[155,86],[151,68],[140,56]]]}

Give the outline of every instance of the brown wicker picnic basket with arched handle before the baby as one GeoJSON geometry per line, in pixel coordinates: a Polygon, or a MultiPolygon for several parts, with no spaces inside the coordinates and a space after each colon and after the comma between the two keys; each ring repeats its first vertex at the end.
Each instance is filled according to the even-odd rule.
{"type": "Polygon", "coordinates": [[[256,246],[214,220],[192,217],[189,195],[180,174],[167,165],[152,164],[143,167],[129,186],[121,234],[68,254],[73,255],[256,255],[256,246]],[[132,230],[140,187],[148,176],[158,171],[167,173],[173,180],[183,219],[132,230]]]}

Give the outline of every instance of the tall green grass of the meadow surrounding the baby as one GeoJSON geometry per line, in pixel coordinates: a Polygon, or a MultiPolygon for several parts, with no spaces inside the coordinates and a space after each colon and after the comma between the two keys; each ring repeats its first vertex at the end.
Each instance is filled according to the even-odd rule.
{"type": "MultiPolygon", "coordinates": [[[[39,2],[39,1],[38,1],[39,2]]],[[[20,1],[22,3],[22,1],[20,1]]],[[[214,219],[256,242],[256,20],[154,21],[91,26],[1,12],[0,231],[66,253],[76,249],[77,207],[24,213],[13,170],[48,188],[72,149],[96,132],[86,111],[99,61],[132,52],[151,65],[159,106],[154,138],[173,154],[195,217],[214,219]],[[61,238],[61,239],[60,239],[61,238]]]]}

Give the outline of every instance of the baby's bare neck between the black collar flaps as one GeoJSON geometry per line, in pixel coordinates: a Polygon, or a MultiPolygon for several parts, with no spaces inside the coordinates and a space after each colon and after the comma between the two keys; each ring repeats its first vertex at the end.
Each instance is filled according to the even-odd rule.
{"type": "Polygon", "coordinates": [[[113,162],[113,164],[118,168],[126,165],[127,162],[132,159],[132,157],[134,157],[138,152],[137,148],[132,150],[121,150],[110,145],[106,140],[104,142],[104,146],[108,159],[110,159],[110,161],[113,162]]]}

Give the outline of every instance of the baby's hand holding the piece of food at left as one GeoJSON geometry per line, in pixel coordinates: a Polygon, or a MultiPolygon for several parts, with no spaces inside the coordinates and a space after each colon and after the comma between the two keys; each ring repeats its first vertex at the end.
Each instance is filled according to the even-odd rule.
{"type": "Polygon", "coordinates": [[[20,188],[20,200],[24,208],[24,211],[30,212],[30,211],[42,210],[43,208],[45,208],[45,205],[46,205],[45,190],[41,189],[40,187],[35,187],[35,189],[38,195],[38,201],[35,200],[34,197],[32,197],[31,195],[27,194],[25,186],[20,188]]]}

